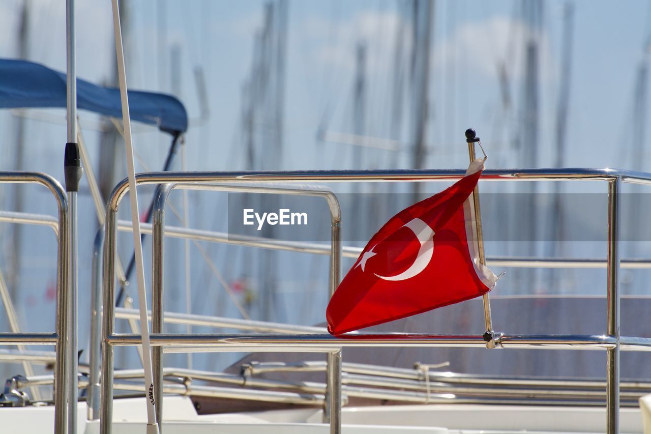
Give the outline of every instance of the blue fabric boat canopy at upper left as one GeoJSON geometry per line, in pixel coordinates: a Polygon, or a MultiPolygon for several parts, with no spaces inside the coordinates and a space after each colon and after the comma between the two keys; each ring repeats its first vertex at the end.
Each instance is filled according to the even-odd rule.
{"type": "MultiPolygon", "coordinates": [[[[174,136],[187,130],[187,112],[174,96],[128,91],[132,121],[174,136]]],[[[0,59],[0,108],[66,107],[66,74],[38,63],[0,59]]],[[[122,118],[120,90],[77,79],[77,107],[122,118]]]]}

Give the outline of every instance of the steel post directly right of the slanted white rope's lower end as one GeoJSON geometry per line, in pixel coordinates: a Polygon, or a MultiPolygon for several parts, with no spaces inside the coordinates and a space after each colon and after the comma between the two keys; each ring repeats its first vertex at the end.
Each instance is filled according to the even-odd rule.
{"type": "MultiPolygon", "coordinates": [[[[163,278],[165,272],[165,203],[173,184],[161,184],[156,189],[152,207],[152,334],[163,332],[163,278]]],[[[156,422],[163,432],[163,347],[152,347],[154,370],[154,401],[156,422]]]]}

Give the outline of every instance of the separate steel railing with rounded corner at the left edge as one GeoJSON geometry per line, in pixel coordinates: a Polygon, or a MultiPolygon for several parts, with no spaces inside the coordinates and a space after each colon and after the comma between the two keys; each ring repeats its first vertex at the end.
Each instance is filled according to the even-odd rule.
{"type": "MultiPolygon", "coordinates": [[[[70,344],[77,340],[77,330],[74,328],[74,294],[71,293],[70,281],[70,239],[68,227],[68,199],[61,184],[53,177],[38,172],[0,172],[2,184],[40,184],[48,188],[57,202],[57,316],[54,333],[0,333],[0,345],[55,345],[56,366],[54,377],[55,433],[66,433],[70,426],[70,414],[76,412],[77,390],[74,384],[66,382],[66,372],[70,371],[76,360],[72,360],[66,351],[70,344]]],[[[34,223],[43,220],[41,217],[31,218],[29,215],[20,216],[5,213],[3,221],[14,223],[34,223]]],[[[46,219],[48,220],[48,219],[46,219]]],[[[47,223],[53,229],[54,222],[47,223]]]]}

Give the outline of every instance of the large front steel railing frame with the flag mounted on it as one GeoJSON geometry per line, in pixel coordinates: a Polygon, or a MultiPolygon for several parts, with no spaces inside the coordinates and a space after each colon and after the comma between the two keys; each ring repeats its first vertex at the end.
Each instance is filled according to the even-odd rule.
{"type": "MultiPolygon", "coordinates": [[[[214,184],[217,182],[350,182],[350,181],[455,181],[464,175],[463,171],[313,171],[313,172],[195,172],[195,173],[145,173],[138,175],[137,182],[143,184],[182,183],[214,184]]],[[[508,335],[498,334],[497,345],[505,348],[574,348],[574,349],[606,349],[607,351],[607,432],[616,433],[618,427],[618,384],[620,349],[649,350],[651,339],[621,337],[618,332],[619,293],[617,270],[620,262],[617,255],[618,243],[618,190],[621,182],[651,184],[651,175],[633,171],[618,171],[615,169],[527,169],[523,171],[490,170],[482,175],[483,181],[602,181],[608,184],[608,218],[606,223],[607,241],[607,334],[602,335],[508,335]]],[[[126,194],[126,181],[115,188],[107,206],[104,267],[104,328],[102,332],[104,375],[102,381],[102,418],[101,431],[109,433],[111,429],[112,388],[113,388],[113,346],[138,345],[139,335],[121,334],[113,331],[115,309],[111,300],[114,297],[113,272],[115,270],[113,252],[115,249],[115,232],[117,230],[115,213],[120,199],[126,194]]],[[[163,236],[162,223],[158,231],[154,230],[154,244],[157,246],[154,256],[161,255],[161,240],[163,236]]],[[[334,230],[334,229],[333,229],[334,230]]],[[[334,252],[334,250],[333,250],[334,252]]],[[[159,259],[157,260],[159,261],[159,259]]],[[[159,261],[160,263],[160,261],[159,261]]],[[[337,275],[338,269],[331,262],[331,276],[337,275]]],[[[338,267],[338,264],[337,264],[338,267]]],[[[156,270],[154,272],[156,275],[156,270]]],[[[154,297],[155,299],[156,297],[154,297]]],[[[162,317],[161,304],[154,308],[154,317],[162,317]]],[[[225,335],[225,334],[163,334],[155,333],[152,345],[164,347],[165,351],[309,351],[337,354],[342,347],[370,346],[439,346],[439,347],[484,347],[485,342],[480,335],[428,335],[428,334],[358,334],[335,338],[329,335],[225,335]]],[[[331,360],[329,360],[331,362],[331,360]]],[[[332,366],[332,363],[329,363],[332,366]]],[[[161,367],[158,366],[159,371],[161,367]]],[[[340,432],[341,377],[340,364],[335,370],[339,375],[329,375],[329,403],[332,409],[330,420],[331,432],[340,432]]]]}

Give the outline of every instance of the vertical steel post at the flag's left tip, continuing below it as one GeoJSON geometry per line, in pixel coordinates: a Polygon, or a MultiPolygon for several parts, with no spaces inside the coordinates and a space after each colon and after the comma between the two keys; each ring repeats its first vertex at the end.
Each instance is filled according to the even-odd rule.
{"type": "MultiPolygon", "coordinates": [[[[330,252],[330,297],[335,293],[341,278],[341,216],[332,216],[330,252]]],[[[330,434],[341,433],[341,350],[327,353],[326,402],[324,423],[330,424],[330,434]]]]}

